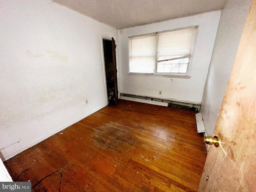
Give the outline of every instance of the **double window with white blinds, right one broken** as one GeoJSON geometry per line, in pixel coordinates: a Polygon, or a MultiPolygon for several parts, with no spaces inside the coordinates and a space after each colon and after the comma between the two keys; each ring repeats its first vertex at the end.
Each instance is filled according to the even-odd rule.
{"type": "Polygon", "coordinates": [[[197,27],[129,38],[129,72],[187,75],[197,27]]]}

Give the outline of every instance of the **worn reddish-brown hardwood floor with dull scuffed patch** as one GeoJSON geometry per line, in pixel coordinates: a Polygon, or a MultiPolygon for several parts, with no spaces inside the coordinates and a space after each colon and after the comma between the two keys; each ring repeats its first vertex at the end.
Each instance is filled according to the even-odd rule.
{"type": "MultiPolygon", "coordinates": [[[[15,180],[60,170],[62,192],[196,191],[206,160],[195,112],[119,100],[4,162],[15,180]]],[[[60,174],[32,191],[58,191],[60,174]]]]}

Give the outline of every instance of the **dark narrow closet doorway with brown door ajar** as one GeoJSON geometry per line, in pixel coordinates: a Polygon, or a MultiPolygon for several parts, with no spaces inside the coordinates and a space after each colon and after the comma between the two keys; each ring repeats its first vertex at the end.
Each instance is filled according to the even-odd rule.
{"type": "Polygon", "coordinates": [[[112,40],[102,38],[102,40],[108,104],[116,105],[118,102],[116,43],[114,38],[112,38],[112,40]]]}

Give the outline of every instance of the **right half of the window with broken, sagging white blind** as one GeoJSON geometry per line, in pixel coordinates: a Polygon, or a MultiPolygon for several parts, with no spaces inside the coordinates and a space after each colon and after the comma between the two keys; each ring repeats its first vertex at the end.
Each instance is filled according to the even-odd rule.
{"type": "Polygon", "coordinates": [[[195,29],[192,27],[158,34],[158,73],[187,72],[194,44],[195,29]]]}

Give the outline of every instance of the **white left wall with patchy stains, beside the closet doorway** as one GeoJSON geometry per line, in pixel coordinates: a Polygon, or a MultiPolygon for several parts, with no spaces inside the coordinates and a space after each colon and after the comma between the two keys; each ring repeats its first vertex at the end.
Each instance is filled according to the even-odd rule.
{"type": "Polygon", "coordinates": [[[0,34],[2,159],[106,106],[101,35],[118,44],[116,29],[50,0],[8,0],[0,34]]]}

